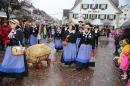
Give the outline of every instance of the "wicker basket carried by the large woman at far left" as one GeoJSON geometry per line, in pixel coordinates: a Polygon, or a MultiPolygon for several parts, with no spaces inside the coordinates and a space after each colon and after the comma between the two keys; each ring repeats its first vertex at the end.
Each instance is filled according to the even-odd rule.
{"type": "Polygon", "coordinates": [[[11,47],[11,54],[14,56],[24,55],[25,47],[22,47],[21,42],[19,42],[19,46],[12,46],[11,47]]]}

